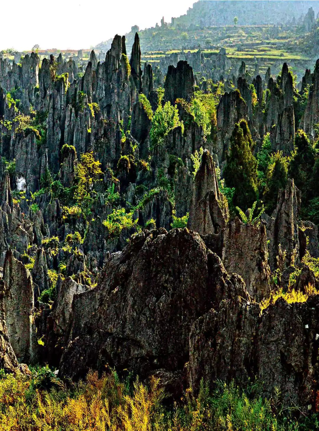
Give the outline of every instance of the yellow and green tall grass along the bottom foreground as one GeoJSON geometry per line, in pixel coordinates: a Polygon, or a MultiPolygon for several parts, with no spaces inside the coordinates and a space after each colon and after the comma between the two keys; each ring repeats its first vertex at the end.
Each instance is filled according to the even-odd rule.
{"type": "MultiPolygon", "coordinates": [[[[1,374],[1,373],[0,373],[1,374]]],[[[315,416],[298,425],[282,410],[277,390],[272,400],[217,383],[204,384],[194,397],[190,390],[178,403],[165,400],[159,381],[120,381],[115,372],[98,377],[89,372],[74,384],[54,377],[47,367],[32,370],[32,378],[0,375],[1,431],[292,431],[316,429],[315,416]]]]}

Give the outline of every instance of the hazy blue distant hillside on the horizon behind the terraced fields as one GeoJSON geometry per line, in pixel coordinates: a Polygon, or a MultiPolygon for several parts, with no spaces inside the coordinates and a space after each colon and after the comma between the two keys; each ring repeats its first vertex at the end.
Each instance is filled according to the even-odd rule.
{"type": "MultiPolygon", "coordinates": [[[[238,27],[302,24],[300,17],[306,15],[310,7],[313,8],[315,17],[318,16],[319,1],[314,0],[199,0],[188,9],[186,15],[173,17],[169,23],[161,22],[161,25],[156,24],[155,27],[139,31],[141,49],[145,51],[189,47],[188,39],[200,42],[205,37],[203,30],[207,27],[234,26],[235,16],[238,18],[238,27]],[[190,34],[192,31],[201,30],[202,34],[190,34]]],[[[137,30],[138,27],[134,25],[126,34],[128,46],[133,44],[137,30]]],[[[109,39],[95,48],[106,51],[111,47],[111,42],[112,39],[109,39]]]]}

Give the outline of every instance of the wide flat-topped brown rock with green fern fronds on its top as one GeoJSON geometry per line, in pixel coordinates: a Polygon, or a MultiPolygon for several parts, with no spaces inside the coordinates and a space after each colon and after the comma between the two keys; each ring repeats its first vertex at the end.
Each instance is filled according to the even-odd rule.
{"type": "Polygon", "coordinates": [[[224,231],[222,261],[227,272],[236,272],[246,283],[251,297],[260,301],[270,294],[267,236],[265,225],[243,224],[236,218],[224,231]]]}

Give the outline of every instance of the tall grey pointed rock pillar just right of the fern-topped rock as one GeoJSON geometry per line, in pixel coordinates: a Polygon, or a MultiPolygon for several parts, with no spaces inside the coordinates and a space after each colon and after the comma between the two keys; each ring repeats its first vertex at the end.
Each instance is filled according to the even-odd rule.
{"type": "Polygon", "coordinates": [[[287,266],[299,262],[298,210],[300,208],[300,191],[294,180],[288,180],[285,190],[278,192],[277,208],[269,221],[270,244],[269,265],[277,268],[279,244],[286,250],[287,266]]]}

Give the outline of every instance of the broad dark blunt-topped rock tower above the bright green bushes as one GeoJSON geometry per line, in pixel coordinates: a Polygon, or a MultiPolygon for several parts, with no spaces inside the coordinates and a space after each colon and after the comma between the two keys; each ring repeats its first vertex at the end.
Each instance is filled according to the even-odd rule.
{"type": "Polygon", "coordinates": [[[186,61],[179,61],[177,67],[168,66],[164,83],[164,101],[175,104],[176,99],[190,102],[194,96],[193,69],[186,61]]]}

